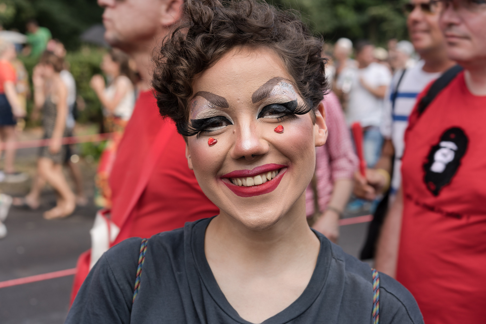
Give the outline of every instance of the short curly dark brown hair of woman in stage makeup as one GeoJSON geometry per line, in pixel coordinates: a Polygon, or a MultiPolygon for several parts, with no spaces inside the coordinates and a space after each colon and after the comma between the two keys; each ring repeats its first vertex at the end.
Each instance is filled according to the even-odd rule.
{"type": "Polygon", "coordinates": [[[322,101],[323,42],[295,11],[257,0],[187,0],[182,10],[184,18],[155,55],[152,81],[160,114],[173,119],[179,133],[187,129],[193,78],[237,46],[273,49],[309,106],[322,101]]]}

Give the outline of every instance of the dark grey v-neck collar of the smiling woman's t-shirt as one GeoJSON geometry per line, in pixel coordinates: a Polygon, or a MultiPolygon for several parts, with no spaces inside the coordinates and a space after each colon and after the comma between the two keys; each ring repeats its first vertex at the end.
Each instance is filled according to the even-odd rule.
{"type": "MultiPolygon", "coordinates": [[[[206,234],[206,228],[212,218],[201,220],[194,223],[191,233],[191,254],[194,261],[196,270],[211,295],[214,302],[235,322],[241,324],[253,324],[244,320],[238,312],[229,304],[223,291],[218,286],[216,279],[209,267],[206,254],[204,252],[204,238],[206,234]]],[[[277,313],[276,315],[266,319],[261,324],[283,324],[287,323],[305,312],[312,303],[317,299],[321,291],[324,289],[326,279],[329,274],[330,262],[331,262],[331,247],[329,240],[325,239],[323,235],[318,234],[312,230],[321,243],[319,254],[317,256],[317,262],[314,271],[311,276],[309,284],[302,292],[302,294],[288,307],[277,313]]]]}

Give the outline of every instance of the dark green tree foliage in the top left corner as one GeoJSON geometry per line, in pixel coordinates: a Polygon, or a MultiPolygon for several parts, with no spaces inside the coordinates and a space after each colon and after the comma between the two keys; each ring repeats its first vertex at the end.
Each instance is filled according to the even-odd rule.
{"type": "Polygon", "coordinates": [[[5,29],[25,33],[26,22],[36,19],[69,50],[79,47],[83,31],[102,22],[102,14],[96,0],[0,0],[0,22],[5,29]]]}

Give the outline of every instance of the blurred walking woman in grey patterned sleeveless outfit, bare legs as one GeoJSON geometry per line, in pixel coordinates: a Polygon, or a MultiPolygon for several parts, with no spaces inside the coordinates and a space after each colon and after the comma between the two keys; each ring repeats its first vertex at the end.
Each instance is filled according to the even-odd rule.
{"type": "Polygon", "coordinates": [[[50,139],[48,146],[42,146],[37,160],[37,173],[31,191],[24,198],[17,198],[14,205],[25,205],[36,209],[40,205],[40,193],[44,180],[57,192],[58,199],[54,208],[44,212],[45,219],[64,218],[69,216],[76,206],[74,193],[62,171],[66,149],[62,139],[67,135],[66,116],[68,114],[68,89],[61,79],[63,60],[54,53],[45,51],[39,64],[34,68],[32,81],[34,83],[33,119],[38,118],[42,110],[42,126],[44,139],[50,139]]]}

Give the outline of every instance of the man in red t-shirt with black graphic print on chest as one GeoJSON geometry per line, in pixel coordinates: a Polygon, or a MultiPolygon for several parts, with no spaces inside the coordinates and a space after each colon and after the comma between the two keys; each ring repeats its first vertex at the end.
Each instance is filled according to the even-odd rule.
{"type": "Polygon", "coordinates": [[[464,71],[410,117],[401,193],[383,224],[376,268],[396,274],[425,323],[484,323],[486,2],[442,3],[447,54],[464,71]]]}

